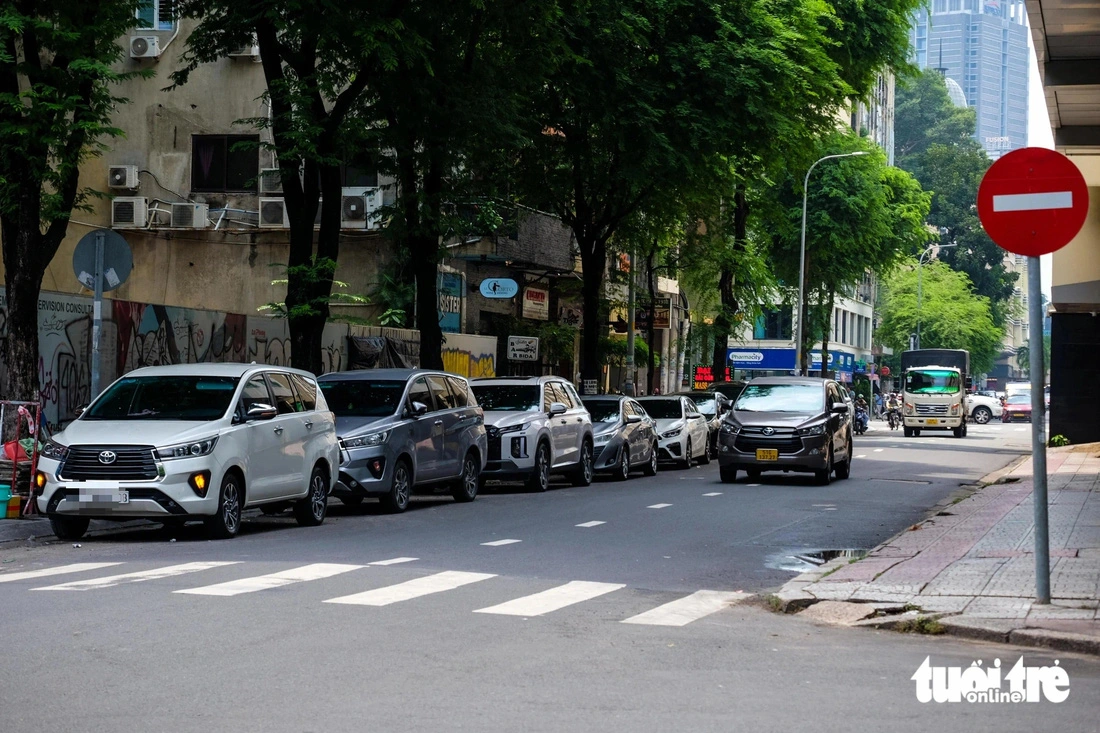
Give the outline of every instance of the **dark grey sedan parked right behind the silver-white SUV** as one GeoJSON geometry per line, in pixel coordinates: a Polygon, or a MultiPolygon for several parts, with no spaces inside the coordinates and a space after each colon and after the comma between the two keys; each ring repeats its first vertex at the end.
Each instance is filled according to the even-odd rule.
{"type": "Polygon", "coordinates": [[[584,397],[582,402],[592,415],[596,472],[610,473],[619,481],[637,468],[646,475],[657,474],[657,431],[641,405],[618,395],[584,397]]]}

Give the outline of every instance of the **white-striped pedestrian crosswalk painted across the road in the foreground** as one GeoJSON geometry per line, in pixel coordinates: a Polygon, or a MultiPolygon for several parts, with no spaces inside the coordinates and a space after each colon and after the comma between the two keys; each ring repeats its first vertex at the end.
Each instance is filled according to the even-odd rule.
{"type": "MultiPolygon", "coordinates": [[[[525,591],[531,590],[531,581],[529,579],[506,578],[487,572],[443,570],[441,572],[419,575],[409,579],[410,573],[416,573],[414,566],[409,565],[415,561],[416,558],[399,557],[364,562],[363,565],[310,562],[297,567],[278,569],[274,572],[270,571],[274,569],[272,564],[264,562],[262,565],[265,572],[260,573],[249,572],[249,570],[254,570],[256,565],[260,565],[250,561],[197,561],[96,577],[87,576],[107,569],[118,571],[124,569],[121,566],[127,564],[74,562],[34,570],[0,572],[0,588],[4,591],[15,591],[20,588],[32,591],[109,591],[109,589],[121,586],[148,582],[147,588],[154,589],[154,592],[167,591],[172,594],[213,599],[263,593],[287,587],[300,587],[305,583],[318,583],[317,588],[326,588],[324,583],[328,581],[339,583],[339,589],[343,592],[332,598],[327,598],[327,594],[321,593],[320,601],[322,603],[375,608],[398,603],[413,603],[425,597],[439,595],[475,583],[483,583],[484,586],[479,587],[487,589],[484,594],[480,593],[479,597],[483,599],[491,598],[492,600],[501,600],[502,597],[507,598],[507,591],[514,583],[522,584],[525,591]],[[206,571],[218,571],[216,572],[217,577],[210,580],[218,580],[219,582],[202,583],[201,581],[194,581],[193,576],[198,576],[206,571]],[[403,578],[392,577],[394,573],[403,576],[403,578]],[[54,577],[66,575],[82,575],[85,577],[68,580],[67,582],[38,584],[42,582],[42,579],[53,579],[54,577]],[[227,577],[230,579],[227,580],[227,577]],[[377,587],[380,580],[383,583],[388,580],[398,580],[398,582],[389,582],[388,584],[377,587]],[[168,584],[175,587],[165,589],[165,583],[157,583],[155,581],[172,581],[168,584]],[[349,584],[353,587],[359,583],[362,583],[360,588],[363,588],[364,584],[367,588],[365,590],[356,590],[354,593],[346,592],[349,584]],[[179,588],[179,584],[186,584],[187,587],[179,588]]],[[[487,616],[538,617],[563,612],[566,609],[588,601],[610,597],[620,600],[626,599],[627,604],[630,606],[630,611],[624,613],[623,617],[619,619],[622,623],[649,626],[684,626],[728,609],[730,605],[748,598],[747,593],[740,591],[700,590],[637,613],[639,610],[637,608],[639,603],[637,594],[631,594],[629,591],[630,589],[623,583],[570,580],[549,588],[543,587],[534,593],[525,592],[509,600],[503,600],[502,602],[483,608],[480,608],[481,604],[476,602],[470,603],[468,598],[463,598],[462,602],[470,603],[469,610],[471,612],[487,616]],[[627,594],[612,595],[618,591],[627,591],[627,594]]],[[[647,600],[652,594],[652,592],[642,593],[647,600]]],[[[668,597],[672,595],[672,593],[661,593],[661,595],[668,597]]]]}

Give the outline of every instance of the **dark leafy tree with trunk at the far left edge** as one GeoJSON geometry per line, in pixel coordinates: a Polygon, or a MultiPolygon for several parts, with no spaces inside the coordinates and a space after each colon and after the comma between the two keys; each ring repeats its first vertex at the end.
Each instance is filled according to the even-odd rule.
{"type": "Polygon", "coordinates": [[[38,292],[74,209],[96,195],[80,164],[122,135],[113,68],[140,0],[10,0],[0,9],[0,237],[8,333],[6,396],[38,395],[38,292]]]}

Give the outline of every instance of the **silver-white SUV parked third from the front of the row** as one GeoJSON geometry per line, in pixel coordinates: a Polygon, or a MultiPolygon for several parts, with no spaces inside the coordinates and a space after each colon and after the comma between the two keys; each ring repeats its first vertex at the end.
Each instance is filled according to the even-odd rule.
{"type": "Polygon", "coordinates": [[[524,481],[534,491],[565,473],[574,486],[592,483],[592,416],[560,376],[473,380],[485,411],[488,461],[482,480],[524,481]]]}

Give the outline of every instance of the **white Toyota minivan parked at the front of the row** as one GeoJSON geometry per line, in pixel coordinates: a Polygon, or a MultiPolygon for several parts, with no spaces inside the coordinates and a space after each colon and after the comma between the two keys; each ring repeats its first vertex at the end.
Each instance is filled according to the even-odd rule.
{"type": "Polygon", "coordinates": [[[309,372],[180,364],[120,378],[42,450],[34,483],[54,534],[97,519],[202,519],[237,535],[241,512],[290,504],[319,525],[340,466],[336,418],[309,372]]]}

